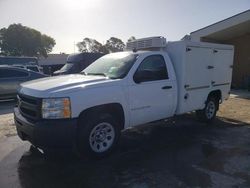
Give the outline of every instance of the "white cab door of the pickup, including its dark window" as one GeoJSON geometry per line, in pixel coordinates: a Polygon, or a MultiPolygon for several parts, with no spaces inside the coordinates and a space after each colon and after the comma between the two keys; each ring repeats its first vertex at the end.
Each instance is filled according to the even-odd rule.
{"type": "Polygon", "coordinates": [[[129,86],[131,126],[173,115],[175,86],[160,54],[144,58],[129,86]]]}

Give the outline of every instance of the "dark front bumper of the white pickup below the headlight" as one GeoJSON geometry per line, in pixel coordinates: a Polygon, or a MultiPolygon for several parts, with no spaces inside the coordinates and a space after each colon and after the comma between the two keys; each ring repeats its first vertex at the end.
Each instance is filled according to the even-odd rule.
{"type": "Polygon", "coordinates": [[[73,148],[76,141],[77,119],[28,121],[14,108],[17,134],[40,149],[73,148]]]}

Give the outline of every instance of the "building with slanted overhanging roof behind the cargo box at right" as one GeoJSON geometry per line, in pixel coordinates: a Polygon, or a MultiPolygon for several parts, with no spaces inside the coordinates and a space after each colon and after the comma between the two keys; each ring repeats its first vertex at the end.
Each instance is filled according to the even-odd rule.
{"type": "Polygon", "coordinates": [[[232,87],[250,88],[250,10],[194,31],[185,39],[234,45],[232,87]]]}

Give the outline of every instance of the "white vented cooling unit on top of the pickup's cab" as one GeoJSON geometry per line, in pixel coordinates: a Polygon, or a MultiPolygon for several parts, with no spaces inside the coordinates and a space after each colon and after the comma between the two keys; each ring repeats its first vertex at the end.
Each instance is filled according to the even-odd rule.
{"type": "Polygon", "coordinates": [[[127,42],[126,50],[140,50],[166,47],[167,41],[164,37],[149,37],[127,42]]]}

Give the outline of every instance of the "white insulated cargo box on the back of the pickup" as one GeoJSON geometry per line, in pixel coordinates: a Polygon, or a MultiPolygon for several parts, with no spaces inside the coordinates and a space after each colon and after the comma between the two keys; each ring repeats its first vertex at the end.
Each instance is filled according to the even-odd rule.
{"type": "Polygon", "coordinates": [[[176,114],[203,109],[207,94],[220,89],[229,96],[234,48],[206,42],[169,42],[166,47],[178,83],[176,114]]]}

